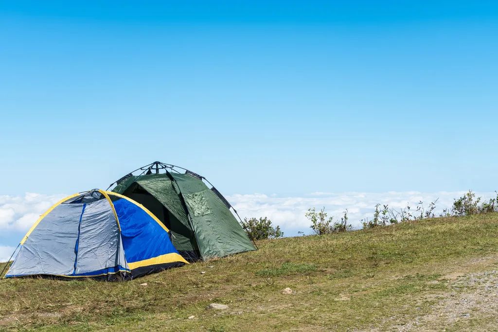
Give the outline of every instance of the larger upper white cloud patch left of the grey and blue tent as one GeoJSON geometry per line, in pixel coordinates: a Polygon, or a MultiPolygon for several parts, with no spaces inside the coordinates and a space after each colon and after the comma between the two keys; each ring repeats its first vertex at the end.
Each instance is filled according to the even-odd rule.
{"type": "Polygon", "coordinates": [[[64,195],[34,193],[0,196],[0,231],[29,229],[41,214],[63,197],[64,195]]]}

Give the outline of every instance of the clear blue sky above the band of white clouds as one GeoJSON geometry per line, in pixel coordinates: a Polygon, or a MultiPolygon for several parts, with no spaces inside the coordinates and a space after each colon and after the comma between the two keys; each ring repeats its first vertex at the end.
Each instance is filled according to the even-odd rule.
{"type": "MultiPolygon", "coordinates": [[[[0,195],[497,189],[495,1],[1,1],[0,195]]],[[[0,238],[1,244],[1,238],[0,238]]]]}

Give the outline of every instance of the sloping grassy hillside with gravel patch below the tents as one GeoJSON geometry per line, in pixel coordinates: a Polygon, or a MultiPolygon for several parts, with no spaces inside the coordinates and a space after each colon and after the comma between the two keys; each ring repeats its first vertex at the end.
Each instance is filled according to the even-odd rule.
{"type": "Polygon", "coordinates": [[[0,330],[496,329],[498,214],[258,246],[131,282],[1,280],[0,330]]]}

